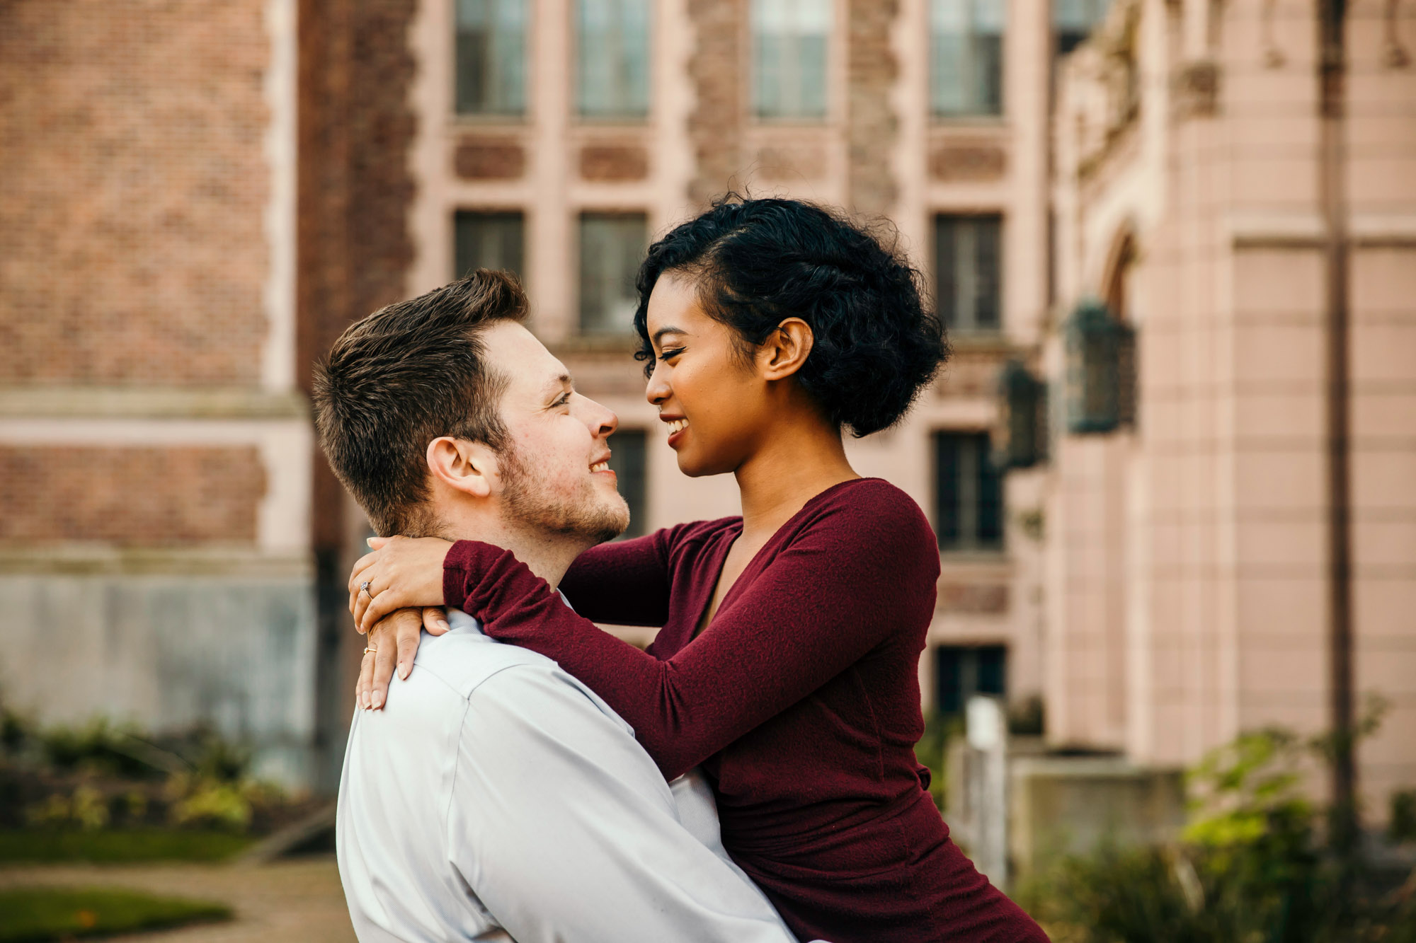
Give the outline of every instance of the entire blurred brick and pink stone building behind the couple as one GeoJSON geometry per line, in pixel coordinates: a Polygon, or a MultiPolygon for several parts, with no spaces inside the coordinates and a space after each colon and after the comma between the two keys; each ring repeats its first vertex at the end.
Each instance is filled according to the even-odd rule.
{"type": "Polygon", "coordinates": [[[1379,814],[1416,780],[1416,10],[1347,6],[1324,106],[1311,0],[4,4],[3,695],[329,787],[367,524],[310,362],[474,266],[620,415],[634,532],[735,513],[629,337],[649,242],[732,188],[888,221],[950,326],[850,445],[939,534],[926,711],[1172,767],[1328,728],[1352,651],[1379,814]]]}

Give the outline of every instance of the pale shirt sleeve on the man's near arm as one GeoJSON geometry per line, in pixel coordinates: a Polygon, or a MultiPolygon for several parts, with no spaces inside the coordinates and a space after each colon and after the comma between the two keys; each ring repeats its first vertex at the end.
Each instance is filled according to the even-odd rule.
{"type": "Polygon", "coordinates": [[[520,943],[794,943],[684,828],[630,731],[554,668],[472,694],[447,823],[452,864],[520,943]]]}

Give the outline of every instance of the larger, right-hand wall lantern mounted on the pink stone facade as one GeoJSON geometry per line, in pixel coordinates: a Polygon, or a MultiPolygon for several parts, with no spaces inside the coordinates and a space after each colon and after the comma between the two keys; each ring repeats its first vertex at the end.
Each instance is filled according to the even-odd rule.
{"type": "Polygon", "coordinates": [[[1066,327],[1066,425],[1076,435],[1112,432],[1134,418],[1134,333],[1097,300],[1066,327]]]}

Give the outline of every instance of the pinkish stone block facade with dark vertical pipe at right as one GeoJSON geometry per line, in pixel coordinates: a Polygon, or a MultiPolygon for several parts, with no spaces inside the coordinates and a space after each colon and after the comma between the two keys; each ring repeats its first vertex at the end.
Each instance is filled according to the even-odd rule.
{"type": "Polygon", "coordinates": [[[1327,105],[1298,0],[1117,0],[1062,69],[1042,661],[1055,743],[1188,765],[1334,728],[1347,596],[1381,820],[1416,783],[1416,10],[1347,7],[1327,105]],[[1134,338],[1106,432],[1076,429],[1087,299],[1134,338]]]}

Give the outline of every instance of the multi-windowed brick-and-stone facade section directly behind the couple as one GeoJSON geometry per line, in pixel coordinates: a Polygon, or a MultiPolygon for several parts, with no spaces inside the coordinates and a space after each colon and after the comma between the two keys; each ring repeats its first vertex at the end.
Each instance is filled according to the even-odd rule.
{"type": "MultiPolygon", "coordinates": [[[[1104,8],[1070,6],[1083,34],[1104,8]]],[[[605,273],[606,255],[637,261],[656,234],[729,190],[884,221],[930,292],[970,310],[957,313],[935,388],[899,428],[851,442],[851,457],[936,524],[942,503],[957,518],[920,664],[926,707],[957,709],[973,691],[1025,701],[1042,678],[1041,477],[990,477],[986,436],[1000,365],[1039,341],[1049,312],[1058,42],[1054,13],[1034,0],[426,0],[409,31],[419,71],[408,292],[472,265],[517,268],[532,330],[619,413],[620,440],[637,438],[626,445],[640,464],[620,479],[643,481],[630,496],[637,527],[657,528],[733,514],[736,490],[726,477],[684,479],[661,445],[630,358],[626,273],[605,273]],[[627,44],[643,98],[588,96],[599,50],[615,42],[627,44]],[[949,69],[977,91],[939,101],[949,69]],[[940,232],[957,244],[944,280],[940,232]],[[600,241],[626,248],[606,253],[600,241]],[[980,285],[966,285],[974,268],[980,285]],[[615,304],[598,297],[607,280],[622,292],[615,304]],[[944,481],[950,469],[957,480],[944,481]]]]}

